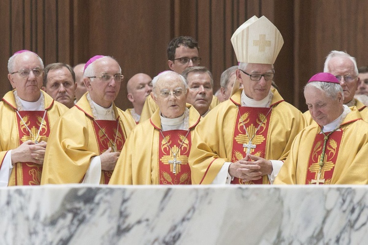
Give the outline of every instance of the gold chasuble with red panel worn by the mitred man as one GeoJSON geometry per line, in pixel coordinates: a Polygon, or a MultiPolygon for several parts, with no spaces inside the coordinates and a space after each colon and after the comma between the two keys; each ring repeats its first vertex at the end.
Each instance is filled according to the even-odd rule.
{"type": "MultiPolygon", "coordinates": [[[[245,157],[248,149],[268,160],[286,159],[292,140],[306,122],[302,113],[285,102],[275,89],[271,92],[270,108],[242,107],[239,89],[201,120],[194,130],[189,155],[192,184],[212,183],[225,162],[245,157]]],[[[238,179],[232,183],[245,184],[238,179]]],[[[255,183],[268,184],[268,176],[247,184],[255,183]]]]}

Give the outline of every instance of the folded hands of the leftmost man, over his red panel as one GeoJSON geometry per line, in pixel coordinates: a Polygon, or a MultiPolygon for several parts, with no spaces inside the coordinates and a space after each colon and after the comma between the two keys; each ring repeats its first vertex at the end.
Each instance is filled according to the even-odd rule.
{"type": "Polygon", "coordinates": [[[47,142],[41,141],[35,144],[31,140],[27,140],[19,147],[11,151],[11,163],[30,162],[43,165],[47,142]]]}

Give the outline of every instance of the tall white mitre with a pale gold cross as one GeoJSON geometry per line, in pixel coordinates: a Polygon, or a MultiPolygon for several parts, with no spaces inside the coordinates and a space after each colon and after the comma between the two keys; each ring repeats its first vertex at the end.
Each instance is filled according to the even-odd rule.
{"type": "MultiPolygon", "coordinates": [[[[242,63],[274,64],[284,39],[280,31],[266,17],[253,16],[234,32],[231,43],[237,61],[242,63]]],[[[239,89],[234,83],[232,95],[239,89]]]]}

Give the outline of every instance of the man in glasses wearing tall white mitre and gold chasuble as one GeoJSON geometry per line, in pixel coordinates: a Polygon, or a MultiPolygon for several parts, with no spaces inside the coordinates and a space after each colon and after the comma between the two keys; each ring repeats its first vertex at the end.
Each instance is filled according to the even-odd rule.
{"type": "Polygon", "coordinates": [[[238,81],[230,99],[194,130],[192,184],[273,183],[294,137],[306,125],[302,113],[271,89],[273,64],[284,44],[279,30],[264,16],[254,16],[231,41],[238,81]]]}

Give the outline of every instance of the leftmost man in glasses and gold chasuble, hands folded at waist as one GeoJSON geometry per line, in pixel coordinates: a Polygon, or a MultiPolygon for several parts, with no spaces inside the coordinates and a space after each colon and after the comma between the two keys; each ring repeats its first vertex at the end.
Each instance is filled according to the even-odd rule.
{"type": "Polygon", "coordinates": [[[41,91],[43,61],[21,50],[8,60],[13,91],[0,102],[0,186],[39,185],[50,129],[68,110],[41,91]]]}

